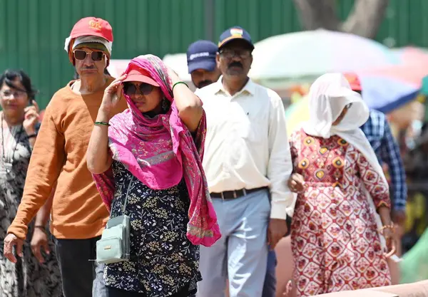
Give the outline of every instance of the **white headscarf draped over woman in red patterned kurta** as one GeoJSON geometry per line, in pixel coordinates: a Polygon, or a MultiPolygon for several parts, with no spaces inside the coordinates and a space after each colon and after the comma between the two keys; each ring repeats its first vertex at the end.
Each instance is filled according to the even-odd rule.
{"type": "Polygon", "coordinates": [[[327,73],[315,80],[309,91],[309,113],[310,120],[303,125],[303,130],[308,135],[323,138],[333,135],[342,137],[365,156],[387,184],[376,154],[360,129],[369,119],[370,110],[361,95],[351,89],[342,73],[327,73]],[[337,120],[343,108],[351,103],[352,106],[345,117],[338,125],[333,126],[332,123],[337,120]]]}

